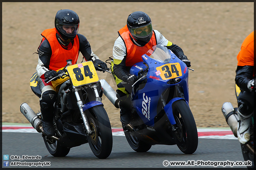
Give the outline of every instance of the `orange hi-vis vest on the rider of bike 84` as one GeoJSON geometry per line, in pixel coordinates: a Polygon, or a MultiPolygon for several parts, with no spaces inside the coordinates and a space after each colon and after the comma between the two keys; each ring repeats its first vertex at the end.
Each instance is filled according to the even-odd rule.
{"type": "MultiPolygon", "coordinates": [[[[56,29],[50,28],[42,32],[43,39],[47,39],[50,43],[52,49],[52,56],[50,57],[49,69],[58,70],[62,67],[65,67],[67,62],[66,60],[72,60],[72,64],[75,64],[78,60],[79,55],[79,39],[78,36],[74,39],[74,45],[70,50],[63,49],[62,45],[59,44],[59,41],[56,38],[56,29]]],[[[71,42],[70,42],[71,43],[71,42]]]]}

